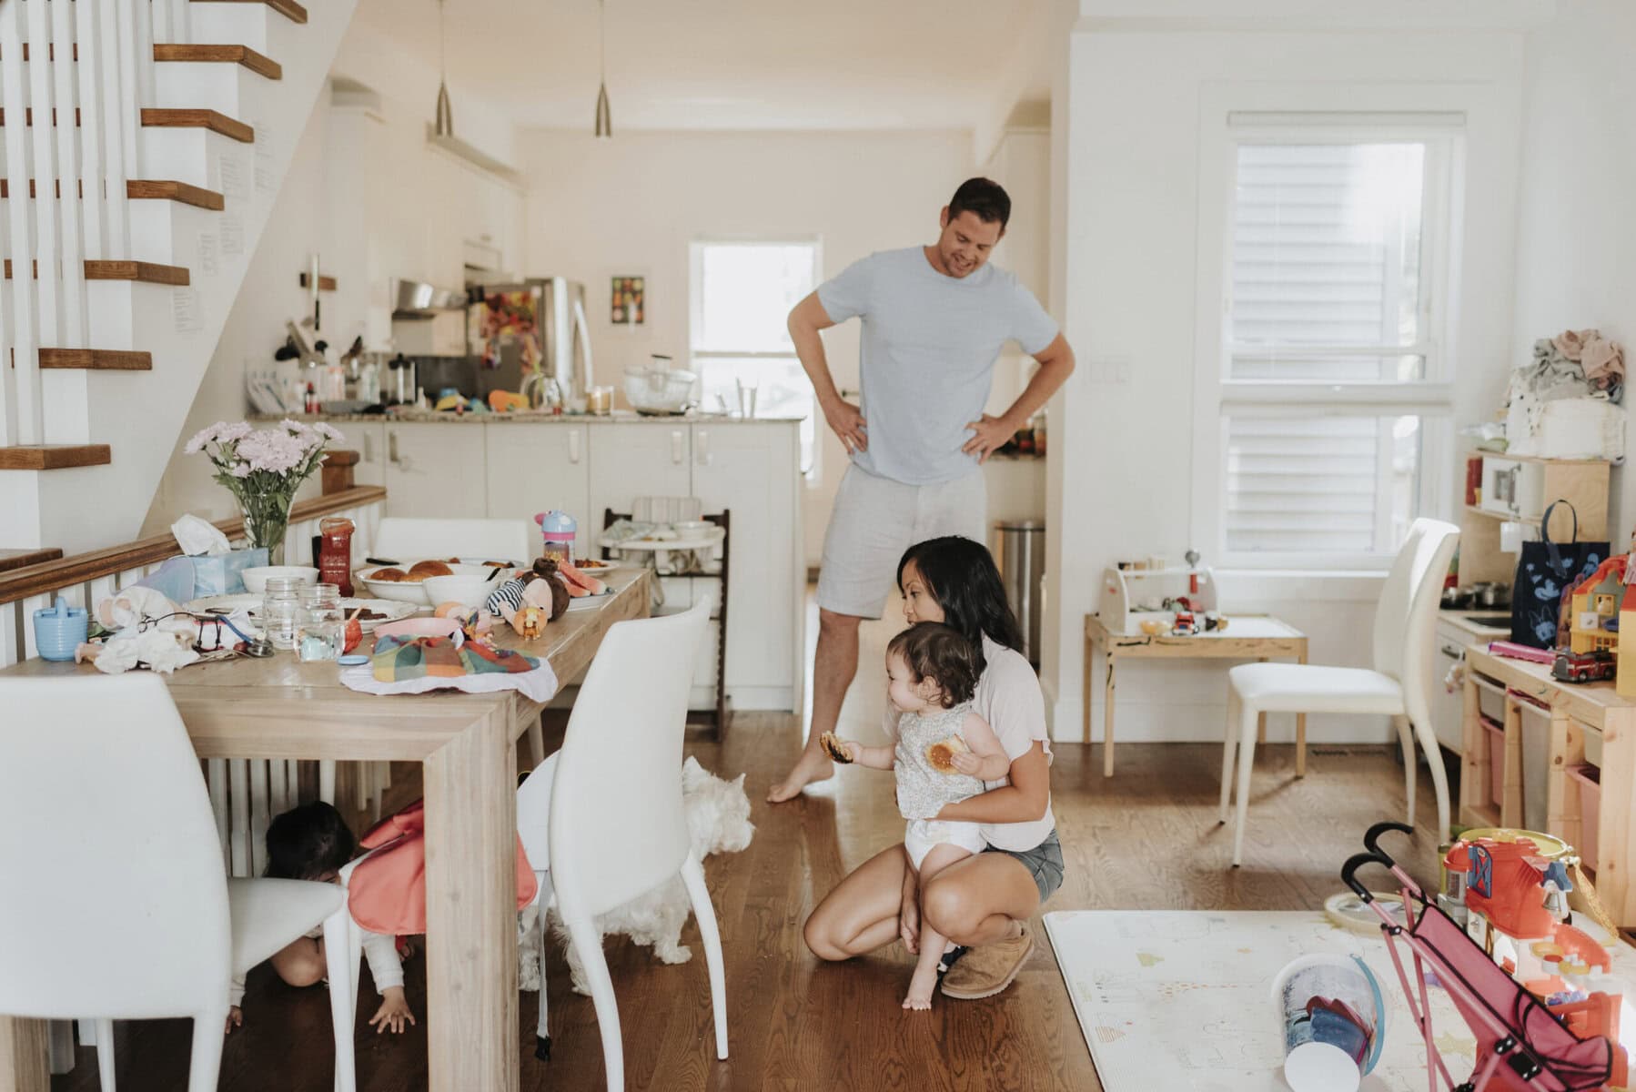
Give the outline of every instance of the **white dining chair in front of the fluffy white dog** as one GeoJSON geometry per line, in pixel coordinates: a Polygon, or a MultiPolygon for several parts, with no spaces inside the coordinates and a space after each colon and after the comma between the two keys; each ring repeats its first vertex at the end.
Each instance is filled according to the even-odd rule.
{"type": "Polygon", "coordinates": [[[517,833],[540,878],[537,1051],[550,1051],[545,915],[555,900],[591,981],[610,1092],[625,1087],[625,1048],[596,917],[677,873],[703,940],[717,1058],[726,1058],[721,936],[682,809],[687,694],[710,606],[707,598],[682,614],[610,627],[579,688],[563,750],[517,791],[517,833]]]}

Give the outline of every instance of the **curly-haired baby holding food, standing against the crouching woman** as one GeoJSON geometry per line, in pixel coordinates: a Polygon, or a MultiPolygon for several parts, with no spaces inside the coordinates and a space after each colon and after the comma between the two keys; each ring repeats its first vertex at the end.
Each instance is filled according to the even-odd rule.
{"type": "MultiPolygon", "coordinates": [[[[977,824],[937,820],[937,812],[983,792],[983,781],[1006,776],[1011,760],[988,722],[972,712],[977,657],[959,630],[941,622],[903,630],[887,647],[887,699],[898,714],[897,747],[864,747],[829,732],[820,743],[839,763],[897,774],[898,810],[908,820],[903,848],[924,894],[933,876],[985,848],[977,824]]],[[[946,936],[921,923],[905,1009],[931,1009],[937,964],[949,948],[946,936]]]]}

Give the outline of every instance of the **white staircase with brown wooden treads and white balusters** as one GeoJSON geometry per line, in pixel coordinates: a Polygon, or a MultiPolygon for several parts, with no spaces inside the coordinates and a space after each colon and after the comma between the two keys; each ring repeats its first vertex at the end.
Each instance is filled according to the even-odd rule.
{"type": "Polygon", "coordinates": [[[136,539],[355,7],[0,0],[0,550],[136,539]]]}

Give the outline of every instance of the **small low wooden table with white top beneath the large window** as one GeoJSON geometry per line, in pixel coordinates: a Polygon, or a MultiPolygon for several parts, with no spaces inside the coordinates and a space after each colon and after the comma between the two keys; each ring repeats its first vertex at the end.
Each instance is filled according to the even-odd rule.
{"type": "MultiPolygon", "coordinates": [[[[1108,655],[1103,684],[1103,776],[1114,776],[1114,661],[1116,660],[1294,660],[1307,661],[1307,635],[1265,614],[1235,614],[1227,630],[1193,637],[1160,634],[1111,634],[1098,614],[1085,616],[1085,742],[1091,742],[1091,657],[1101,645],[1108,655]]],[[[1266,738],[1266,714],[1261,714],[1266,738]]],[[[1307,715],[1296,714],[1296,776],[1307,773],[1307,715]]]]}

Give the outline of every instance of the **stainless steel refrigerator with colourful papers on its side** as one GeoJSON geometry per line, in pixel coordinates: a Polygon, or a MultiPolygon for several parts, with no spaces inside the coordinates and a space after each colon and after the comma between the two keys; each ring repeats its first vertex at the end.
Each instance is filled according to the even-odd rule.
{"type": "Polygon", "coordinates": [[[591,324],[586,287],[566,277],[470,285],[466,341],[478,395],[524,391],[538,403],[548,380],[568,403],[591,386],[591,324]],[[540,380],[532,380],[538,375],[540,380]]]}

